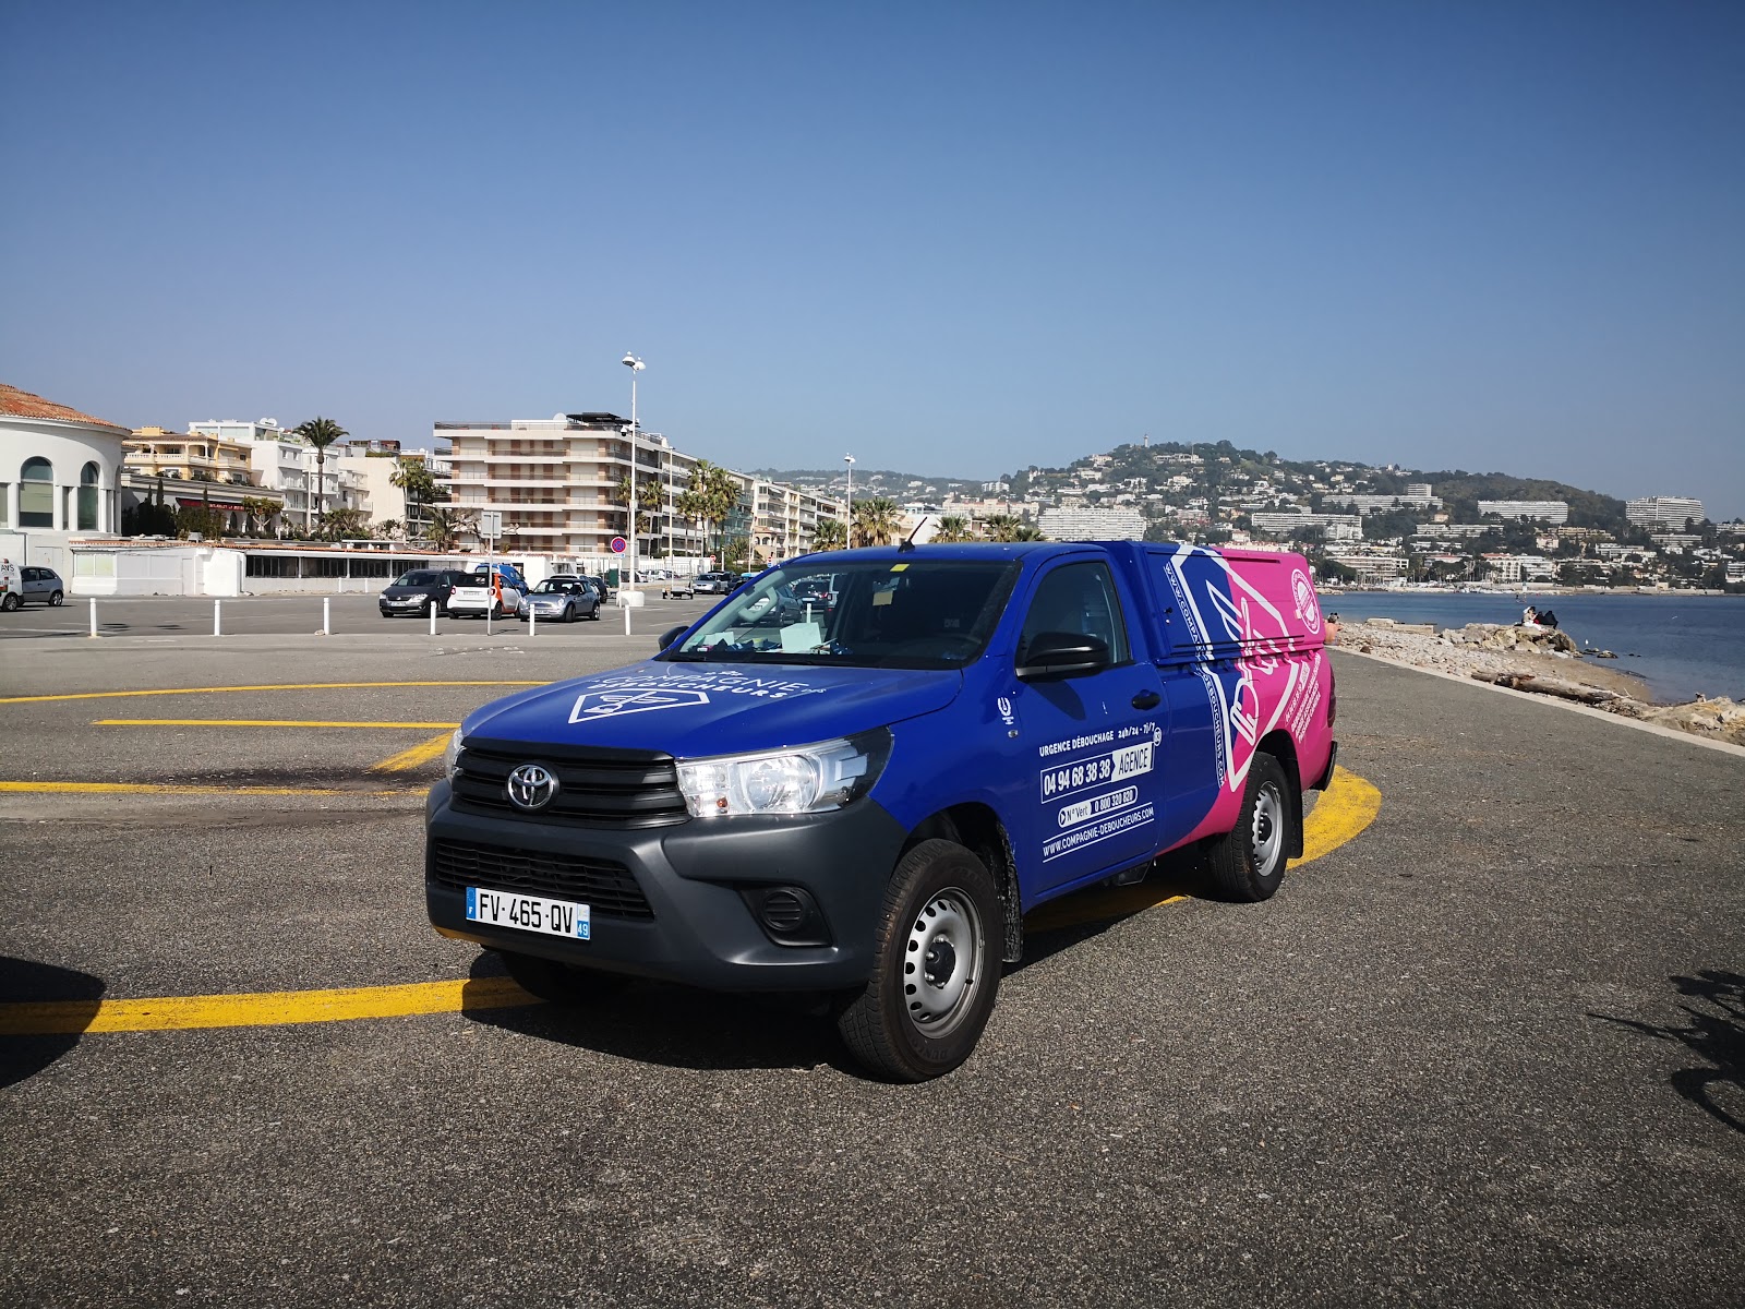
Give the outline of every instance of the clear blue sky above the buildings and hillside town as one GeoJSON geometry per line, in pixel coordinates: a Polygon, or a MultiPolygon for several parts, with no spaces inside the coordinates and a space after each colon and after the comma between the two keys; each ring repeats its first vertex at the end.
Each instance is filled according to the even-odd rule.
{"type": "Polygon", "coordinates": [[[1745,3],[0,5],[0,380],[1745,515],[1745,3]]]}

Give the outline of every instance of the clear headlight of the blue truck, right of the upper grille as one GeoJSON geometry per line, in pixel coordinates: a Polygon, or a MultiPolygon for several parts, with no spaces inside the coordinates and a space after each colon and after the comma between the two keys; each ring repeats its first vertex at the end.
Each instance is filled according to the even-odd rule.
{"type": "Polygon", "coordinates": [[[864,796],[890,757],[890,733],[768,754],[679,763],[679,791],[696,819],[742,813],[822,813],[864,796]]]}

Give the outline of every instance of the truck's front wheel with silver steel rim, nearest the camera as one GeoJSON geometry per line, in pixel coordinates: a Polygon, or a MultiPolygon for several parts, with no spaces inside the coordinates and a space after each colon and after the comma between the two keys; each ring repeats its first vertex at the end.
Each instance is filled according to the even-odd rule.
{"type": "Polygon", "coordinates": [[[955,841],[921,841],[892,873],[872,976],[838,1019],[876,1077],[925,1082],[961,1065],[1000,991],[1005,909],[982,862],[955,841]]]}

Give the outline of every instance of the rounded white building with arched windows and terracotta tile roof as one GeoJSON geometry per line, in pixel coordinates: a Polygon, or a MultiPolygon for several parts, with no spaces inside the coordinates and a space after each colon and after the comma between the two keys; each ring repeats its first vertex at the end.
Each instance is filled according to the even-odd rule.
{"type": "Polygon", "coordinates": [[[0,384],[0,557],[70,578],[73,536],[120,529],[129,429],[0,384]]]}

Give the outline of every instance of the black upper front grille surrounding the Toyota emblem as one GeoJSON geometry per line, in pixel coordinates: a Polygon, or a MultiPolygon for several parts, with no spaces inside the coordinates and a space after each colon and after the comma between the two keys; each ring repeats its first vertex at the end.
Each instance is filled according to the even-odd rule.
{"type": "Polygon", "coordinates": [[[583,827],[665,827],[691,817],[670,754],[473,738],[461,750],[454,805],[469,813],[583,827]],[[539,810],[510,803],[510,773],[524,763],[537,763],[557,775],[557,796],[539,810]]]}

